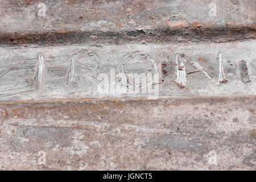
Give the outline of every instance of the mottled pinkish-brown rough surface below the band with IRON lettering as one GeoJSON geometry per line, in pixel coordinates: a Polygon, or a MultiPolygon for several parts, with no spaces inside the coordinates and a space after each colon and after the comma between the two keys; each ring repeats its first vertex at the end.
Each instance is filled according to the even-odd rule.
{"type": "Polygon", "coordinates": [[[255,103],[251,96],[0,105],[0,168],[255,170],[255,103]]]}

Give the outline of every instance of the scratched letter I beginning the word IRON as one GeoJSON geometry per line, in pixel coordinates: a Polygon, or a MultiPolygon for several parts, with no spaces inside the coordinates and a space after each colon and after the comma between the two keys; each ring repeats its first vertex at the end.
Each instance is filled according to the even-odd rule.
{"type": "Polygon", "coordinates": [[[36,90],[39,90],[43,83],[43,73],[44,73],[45,63],[44,63],[44,57],[42,53],[39,54],[38,61],[39,61],[38,71],[36,72],[36,76],[34,78],[36,90]]]}

